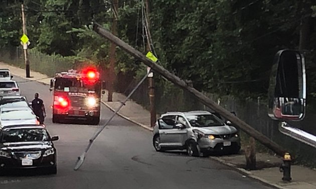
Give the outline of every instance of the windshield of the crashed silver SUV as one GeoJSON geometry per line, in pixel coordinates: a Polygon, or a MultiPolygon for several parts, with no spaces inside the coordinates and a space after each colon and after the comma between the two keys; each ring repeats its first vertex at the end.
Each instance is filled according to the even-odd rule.
{"type": "Polygon", "coordinates": [[[212,114],[187,115],[187,118],[193,127],[212,127],[225,125],[221,119],[212,114]]]}

